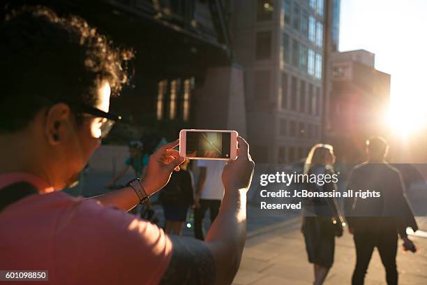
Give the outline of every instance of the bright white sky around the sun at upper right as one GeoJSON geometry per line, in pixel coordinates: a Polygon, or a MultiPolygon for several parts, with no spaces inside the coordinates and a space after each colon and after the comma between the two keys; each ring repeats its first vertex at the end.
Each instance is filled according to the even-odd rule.
{"type": "Polygon", "coordinates": [[[391,74],[390,125],[400,132],[427,126],[427,0],[341,0],[341,52],[375,53],[391,74]]]}

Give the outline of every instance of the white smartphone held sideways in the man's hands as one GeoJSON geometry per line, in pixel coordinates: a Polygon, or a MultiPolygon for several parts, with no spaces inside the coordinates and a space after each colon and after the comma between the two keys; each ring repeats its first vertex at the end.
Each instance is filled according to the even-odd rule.
{"type": "Polygon", "coordinates": [[[236,159],[237,136],[237,131],[184,129],[179,132],[179,155],[188,159],[236,159]]]}

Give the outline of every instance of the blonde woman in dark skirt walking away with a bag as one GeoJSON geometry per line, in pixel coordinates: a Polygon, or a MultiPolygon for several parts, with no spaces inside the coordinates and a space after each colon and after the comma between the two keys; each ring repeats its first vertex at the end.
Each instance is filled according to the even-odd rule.
{"type": "MultiPolygon", "coordinates": [[[[333,175],[335,163],[331,145],[317,144],[310,150],[304,166],[307,175],[333,175]]],[[[307,183],[313,192],[336,191],[334,182],[307,183]]],[[[308,261],[314,265],[315,285],[323,284],[334,263],[335,237],[343,235],[335,198],[310,198],[304,201],[301,231],[304,234],[308,261]]]]}

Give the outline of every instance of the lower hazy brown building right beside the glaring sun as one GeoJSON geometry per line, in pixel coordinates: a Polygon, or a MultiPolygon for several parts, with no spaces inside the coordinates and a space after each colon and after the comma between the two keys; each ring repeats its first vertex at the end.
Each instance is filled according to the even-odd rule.
{"type": "Polygon", "coordinates": [[[389,107],[390,80],[375,69],[375,54],[366,50],[331,54],[331,93],[326,138],[340,161],[365,159],[369,136],[387,137],[384,121],[389,107]]]}

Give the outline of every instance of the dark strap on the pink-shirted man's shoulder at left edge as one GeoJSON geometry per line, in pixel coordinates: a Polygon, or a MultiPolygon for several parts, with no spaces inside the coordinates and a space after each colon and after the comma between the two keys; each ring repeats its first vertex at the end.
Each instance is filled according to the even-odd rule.
{"type": "Polygon", "coordinates": [[[17,182],[0,189],[0,212],[8,205],[32,194],[38,194],[38,189],[28,182],[17,182]]]}

